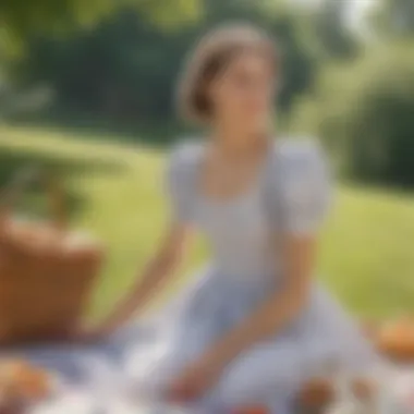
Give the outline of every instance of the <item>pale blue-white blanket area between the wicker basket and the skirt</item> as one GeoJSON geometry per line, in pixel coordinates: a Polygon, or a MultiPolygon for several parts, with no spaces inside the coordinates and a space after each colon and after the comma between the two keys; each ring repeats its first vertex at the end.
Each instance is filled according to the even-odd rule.
{"type": "Polygon", "coordinates": [[[34,407],[33,414],[127,414],[129,406],[137,414],[124,375],[129,336],[145,343],[148,332],[136,326],[90,345],[39,344],[2,350],[0,356],[24,358],[56,374],[57,397],[34,407]]]}

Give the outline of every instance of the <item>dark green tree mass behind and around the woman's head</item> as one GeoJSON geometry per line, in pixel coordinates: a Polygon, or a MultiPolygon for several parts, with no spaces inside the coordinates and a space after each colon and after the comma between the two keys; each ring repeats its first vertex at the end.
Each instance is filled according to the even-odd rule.
{"type": "Polygon", "coordinates": [[[16,85],[47,84],[57,106],[121,119],[167,119],[174,84],[191,46],[218,23],[249,21],[275,35],[283,51],[280,106],[289,113],[314,80],[316,62],[295,16],[272,5],[204,0],[191,25],[166,29],[144,12],[124,9],[94,29],[70,38],[35,38],[24,59],[11,66],[16,85]],[[269,12],[271,11],[271,13],[269,12]]]}

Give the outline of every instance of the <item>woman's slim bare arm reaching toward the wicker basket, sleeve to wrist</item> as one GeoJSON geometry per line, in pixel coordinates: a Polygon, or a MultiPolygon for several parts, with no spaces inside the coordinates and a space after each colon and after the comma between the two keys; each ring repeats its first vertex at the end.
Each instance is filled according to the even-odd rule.
{"type": "Polygon", "coordinates": [[[187,244],[187,236],[188,229],[186,226],[182,223],[170,224],[154,258],[149,260],[126,297],[100,325],[99,331],[112,331],[146,305],[179,266],[184,247],[187,244]]]}

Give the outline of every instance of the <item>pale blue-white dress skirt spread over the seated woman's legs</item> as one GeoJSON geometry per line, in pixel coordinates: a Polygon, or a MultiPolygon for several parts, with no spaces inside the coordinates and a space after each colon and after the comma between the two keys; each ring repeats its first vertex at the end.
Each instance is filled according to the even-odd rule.
{"type": "MultiPolygon", "coordinates": [[[[171,379],[281,285],[263,277],[239,279],[206,269],[154,322],[154,338],[126,353],[126,369],[144,397],[162,400],[171,379]]],[[[301,385],[330,370],[366,374],[376,363],[370,345],[341,306],[317,283],[300,315],[271,338],[233,360],[203,404],[279,405],[301,385]]]]}

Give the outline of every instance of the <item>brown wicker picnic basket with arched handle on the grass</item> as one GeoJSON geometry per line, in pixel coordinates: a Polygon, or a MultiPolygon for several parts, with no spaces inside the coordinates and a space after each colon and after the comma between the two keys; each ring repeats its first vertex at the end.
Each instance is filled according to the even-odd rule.
{"type": "Polygon", "coordinates": [[[50,221],[12,214],[33,174],[21,174],[1,196],[1,345],[65,338],[84,314],[104,258],[96,241],[68,231],[58,181],[38,178],[49,193],[50,221]]]}

